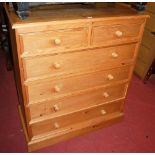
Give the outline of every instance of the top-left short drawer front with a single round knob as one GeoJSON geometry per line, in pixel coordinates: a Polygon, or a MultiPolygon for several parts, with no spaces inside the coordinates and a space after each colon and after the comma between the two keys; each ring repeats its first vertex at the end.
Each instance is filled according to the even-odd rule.
{"type": "Polygon", "coordinates": [[[88,28],[55,30],[21,35],[24,55],[78,49],[88,44],[88,28]]]}

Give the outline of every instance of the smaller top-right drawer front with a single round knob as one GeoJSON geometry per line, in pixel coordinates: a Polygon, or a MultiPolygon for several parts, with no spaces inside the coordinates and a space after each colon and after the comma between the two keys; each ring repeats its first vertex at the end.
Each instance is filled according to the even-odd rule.
{"type": "Polygon", "coordinates": [[[92,45],[114,45],[131,42],[140,38],[141,24],[94,26],[92,45]]]}

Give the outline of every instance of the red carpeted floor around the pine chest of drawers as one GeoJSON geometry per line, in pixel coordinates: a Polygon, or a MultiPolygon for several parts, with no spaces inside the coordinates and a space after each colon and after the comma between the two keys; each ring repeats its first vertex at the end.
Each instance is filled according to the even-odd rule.
{"type": "MultiPolygon", "coordinates": [[[[17,105],[13,72],[0,51],[0,152],[27,152],[17,105]]],[[[155,152],[155,79],[133,77],[125,113],[119,124],[36,152],[155,152]]]]}

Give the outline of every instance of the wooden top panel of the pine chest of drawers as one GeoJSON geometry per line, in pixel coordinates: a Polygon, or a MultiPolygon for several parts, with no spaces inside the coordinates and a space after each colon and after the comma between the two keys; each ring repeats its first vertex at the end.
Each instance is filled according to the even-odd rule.
{"type": "Polygon", "coordinates": [[[146,16],[144,14],[138,14],[134,9],[120,4],[113,6],[105,3],[97,3],[96,5],[59,4],[31,8],[29,17],[25,20],[21,20],[11,8],[8,6],[5,8],[13,28],[38,26],[42,24],[50,24],[51,22],[56,22],[57,24],[65,21],[75,21],[77,19],[79,22],[79,20],[95,21],[98,19],[101,20],[101,18],[105,20],[107,17],[146,16]]]}

